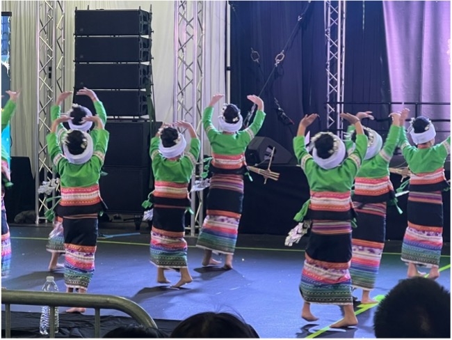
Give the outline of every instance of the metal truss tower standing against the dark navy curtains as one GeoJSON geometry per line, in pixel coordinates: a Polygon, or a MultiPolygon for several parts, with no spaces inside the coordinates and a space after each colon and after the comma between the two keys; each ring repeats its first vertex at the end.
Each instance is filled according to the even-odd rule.
{"type": "Polygon", "coordinates": [[[327,49],[327,127],[342,136],[343,123],[339,114],[344,110],[344,104],[341,102],[344,102],[346,1],[325,0],[323,4],[327,49]]]}

